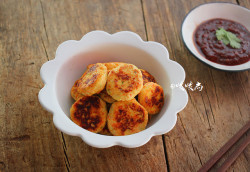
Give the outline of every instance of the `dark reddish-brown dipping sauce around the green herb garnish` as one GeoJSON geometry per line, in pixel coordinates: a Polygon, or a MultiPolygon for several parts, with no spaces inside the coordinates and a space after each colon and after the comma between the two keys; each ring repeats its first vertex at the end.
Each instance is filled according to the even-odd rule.
{"type": "Polygon", "coordinates": [[[234,66],[246,63],[250,59],[249,31],[241,24],[230,20],[212,19],[202,23],[195,31],[194,42],[206,59],[218,64],[234,66]],[[219,28],[234,33],[241,40],[241,47],[235,49],[219,41],[216,37],[216,30],[219,28]]]}

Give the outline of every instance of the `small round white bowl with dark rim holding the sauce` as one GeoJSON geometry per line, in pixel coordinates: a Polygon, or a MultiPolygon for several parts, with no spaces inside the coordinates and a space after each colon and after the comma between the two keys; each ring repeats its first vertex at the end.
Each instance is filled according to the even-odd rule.
{"type": "Polygon", "coordinates": [[[232,3],[216,2],[202,4],[191,10],[182,23],[181,34],[186,47],[198,60],[208,64],[213,68],[226,71],[242,71],[250,69],[250,61],[241,65],[226,66],[209,61],[198,52],[193,40],[194,32],[197,26],[199,26],[201,23],[214,18],[232,20],[242,24],[248,30],[250,30],[249,9],[232,3]]]}

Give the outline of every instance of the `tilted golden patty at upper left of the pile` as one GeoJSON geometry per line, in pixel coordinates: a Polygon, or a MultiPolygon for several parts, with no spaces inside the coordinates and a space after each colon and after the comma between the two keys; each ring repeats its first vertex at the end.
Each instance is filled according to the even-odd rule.
{"type": "Polygon", "coordinates": [[[107,81],[107,67],[101,63],[91,66],[78,82],[77,91],[84,96],[101,92],[107,81]]]}

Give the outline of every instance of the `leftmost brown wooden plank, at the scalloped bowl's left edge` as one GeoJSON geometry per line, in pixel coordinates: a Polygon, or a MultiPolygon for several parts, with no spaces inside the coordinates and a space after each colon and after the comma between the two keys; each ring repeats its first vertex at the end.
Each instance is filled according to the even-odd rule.
{"type": "Polygon", "coordinates": [[[39,1],[0,1],[0,171],[66,171],[60,132],[37,100],[41,21],[39,1]]]}

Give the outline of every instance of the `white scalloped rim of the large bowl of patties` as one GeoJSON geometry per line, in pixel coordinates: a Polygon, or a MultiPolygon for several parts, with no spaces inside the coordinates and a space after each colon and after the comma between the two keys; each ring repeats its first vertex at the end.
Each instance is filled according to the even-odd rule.
{"type": "MultiPolygon", "coordinates": [[[[62,111],[56,99],[56,77],[60,67],[67,59],[81,52],[82,46],[94,46],[98,43],[120,43],[139,48],[146,53],[158,58],[162,63],[174,66],[171,74],[178,73],[177,76],[168,75],[171,84],[182,85],[185,80],[185,71],[177,62],[169,59],[168,50],[160,43],[152,41],[143,41],[141,37],[130,31],[121,31],[109,34],[104,31],[92,31],[82,37],[81,40],[69,40],[59,45],[56,50],[55,59],[44,63],[40,70],[44,87],[40,90],[38,99],[40,104],[49,112],[53,113],[53,122],[60,131],[73,136],[82,138],[88,145],[97,148],[107,148],[115,145],[134,148],[147,143],[151,137],[169,132],[176,124],[177,113],[187,105],[188,95],[186,90],[181,86],[172,89],[172,99],[169,107],[164,112],[161,120],[158,120],[151,127],[132,135],[127,136],[105,136],[89,132],[71,121],[62,111]],[[69,48],[70,47],[70,48],[69,48]],[[65,51],[68,50],[68,51],[65,51]],[[68,54],[67,54],[68,53],[68,54]],[[157,57],[156,57],[157,56],[157,57]],[[63,115],[62,115],[63,114],[63,115]],[[168,121],[166,121],[168,120],[168,121]],[[166,125],[167,123],[167,125],[166,125]]],[[[170,70],[170,69],[166,69],[170,70]]]]}

